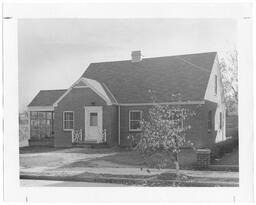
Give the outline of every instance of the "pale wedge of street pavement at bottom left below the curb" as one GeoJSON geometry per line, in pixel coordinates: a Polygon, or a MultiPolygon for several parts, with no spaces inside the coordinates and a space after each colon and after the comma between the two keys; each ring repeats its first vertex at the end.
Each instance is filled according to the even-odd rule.
{"type": "Polygon", "coordinates": [[[127,185],[112,184],[112,183],[92,183],[92,182],[72,182],[72,181],[53,181],[53,180],[31,180],[21,179],[20,186],[23,187],[124,187],[127,185]]]}

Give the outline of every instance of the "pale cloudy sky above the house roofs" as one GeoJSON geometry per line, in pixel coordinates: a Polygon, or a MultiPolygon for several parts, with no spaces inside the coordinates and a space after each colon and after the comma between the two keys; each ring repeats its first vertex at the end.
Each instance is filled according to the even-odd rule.
{"type": "Polygon", "coordinates": [[[40,90],[67,89],[93,62],[236,48],[232,19],[20,19],[19,111],[40,90]]]}

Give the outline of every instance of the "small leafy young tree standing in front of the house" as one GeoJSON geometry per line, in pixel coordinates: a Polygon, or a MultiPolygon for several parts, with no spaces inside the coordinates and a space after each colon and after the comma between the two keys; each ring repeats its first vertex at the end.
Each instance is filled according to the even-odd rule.
{"type": "Polygon", "coordinates": [[[174,160],[176,174],[179,177],[181,147],[193,147],[193,143],[186,141],[186,132],[191,126],[185,121],[194,115],[195,112],[180,105],[154,102],[147,119],[141,122],[142,134],[135,149],[147,157],[155,153],[167,154],[169,159],[174,160]]]}

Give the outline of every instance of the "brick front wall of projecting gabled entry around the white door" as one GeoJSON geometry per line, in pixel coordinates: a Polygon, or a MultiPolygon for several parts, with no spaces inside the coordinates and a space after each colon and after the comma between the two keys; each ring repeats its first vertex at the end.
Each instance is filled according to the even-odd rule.
{"type": "Polygon", "coordinates": [[[107,143],[114,144],[117,141],[116,128],[117,121],[116,106],[108,106],[106,102],[90,88],[73,88],[55,107],[54,123],[54,146],[72,146],[72,132],[63,130],[63,112],[74,112],[74,129],[82,129],[83,140],[85,138],[85,106],[103,107],[103,129],[106,129],[107,143]],[[113,138],[113,139],[112,139],[113,138]]]}

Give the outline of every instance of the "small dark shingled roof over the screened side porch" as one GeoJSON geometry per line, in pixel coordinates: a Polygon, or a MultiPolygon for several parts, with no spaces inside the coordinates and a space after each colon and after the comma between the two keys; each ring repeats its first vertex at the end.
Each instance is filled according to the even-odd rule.
{"type": "Polygon", "coordinates": [[[32,106],[53,106],[67,90],[40,90],[28,107],[32,106]]]}

